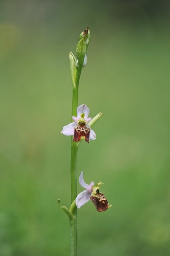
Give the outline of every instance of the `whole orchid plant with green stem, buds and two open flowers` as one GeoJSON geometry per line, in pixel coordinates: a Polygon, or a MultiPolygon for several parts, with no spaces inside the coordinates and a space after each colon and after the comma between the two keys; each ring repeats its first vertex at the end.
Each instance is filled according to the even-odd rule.
{"type": "Polygon", "coordinates": [[[81,208],[82,205],[91,200],[98,212],[106,211],[111,207],[108,200],[103,193],[99,192],[99,186],[104,183],[98,182],[94,184],[92,181],[90,184],[84,182],[83,171],[80,174],[80,185],[86,190],[77,195],[77,152],[78,146],[82,140],[90,142],[90,140],[96,139],[96,133],[92,130],[92,126],[102,116],[102,112],[99,112],[95,117],[89,116],[89,108],[86,104],[78,106],[78,87],[81,75],[81,70],[87,63],[87,48],[90,42],[90,30],[89,27],[85,29],[79,37],[79,42],[76,48],[76,57],[72,52],[69,53],[70,69],[71,69],[71,81],[73,87],[72,98],[72,120],[74,122],[65,125],[61,131],[66,136],[71,136],[71,206],[68,209],[66,206],[60,205],[60,199],[58,198],[59,207],[67,214],[70,220],[71,227],[71,256],[77,256],[77,208],[81,208]]]}

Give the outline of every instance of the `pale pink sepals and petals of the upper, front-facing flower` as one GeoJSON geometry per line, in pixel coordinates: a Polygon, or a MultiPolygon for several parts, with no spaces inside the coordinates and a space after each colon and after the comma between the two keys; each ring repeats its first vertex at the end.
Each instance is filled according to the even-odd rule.
{"type": "MultiPolygon", "coordinates": [[[[74,122],[63,126],[63,129],[61,133],[63,133],[66,136],[73,136],[74,135],[74,128],[77,126],[77,122],[81,119],[81,114],[84,113],[84,120],[87,122],[87,124],[90,122],[92,119],[91,117],[88,117],[90,112],[90,109],[87,107],[86,104],[82,104],[78,106],[77,108],[77,117],[72,116],[72,119],[74,122]]],[[[95,132],[90,128],[90,140],[95,140],[96,139],[96,134],[95,132]]]]}

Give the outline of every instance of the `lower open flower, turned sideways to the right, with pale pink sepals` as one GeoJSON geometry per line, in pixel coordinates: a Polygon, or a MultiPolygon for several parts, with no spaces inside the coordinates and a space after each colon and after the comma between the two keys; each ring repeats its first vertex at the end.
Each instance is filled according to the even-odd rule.
{"type": "Polygon", "coordinates": [[[87,203],[89,200],[91,200],[94,203],[98,212],[106,211],[108,208],[111,207],[111,204],[109,205],[104,194],[99,192],[99,186],[103,185],[104,183],[98,182],[96,185],[94,185],[94,182],[92,181],[88,185],[87,183],[84,182],[83,171],[80,174],[79,182],[82,187],[86,188],[86,190],[82,191],[76,197],[77,208],[80,208],[82,205],[87,203]]]}

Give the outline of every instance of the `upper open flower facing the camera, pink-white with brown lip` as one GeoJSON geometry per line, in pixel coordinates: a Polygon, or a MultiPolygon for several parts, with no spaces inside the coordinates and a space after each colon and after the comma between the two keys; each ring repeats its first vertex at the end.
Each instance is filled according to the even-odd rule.
{"type": "Polygon", "coordinates": [[[88,117],[89,108],[86,104],[82,104],[77,108],[77,116],[72,116],[73,123],[70,123],[63,127],[61,133],[66,136],[73,135],[73,141],[79,141],[85,139],[87,142],[96,139],[95,132],[87,126],[87,124],[92,119],[88,117]]]}

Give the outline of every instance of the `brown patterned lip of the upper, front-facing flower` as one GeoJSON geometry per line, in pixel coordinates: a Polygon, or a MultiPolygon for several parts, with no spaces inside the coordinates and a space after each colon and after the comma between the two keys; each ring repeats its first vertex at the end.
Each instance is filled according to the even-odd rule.
{"type": "Polygon", "coordinates": [[[74,136],[73,141],[79,141],[81,139],[85,139],[85,141],[89,142],[90,137],[90,128],[89,127],[80,127],[76,126],[74,128],[74,136]]]}

